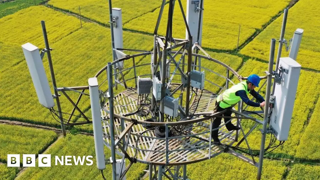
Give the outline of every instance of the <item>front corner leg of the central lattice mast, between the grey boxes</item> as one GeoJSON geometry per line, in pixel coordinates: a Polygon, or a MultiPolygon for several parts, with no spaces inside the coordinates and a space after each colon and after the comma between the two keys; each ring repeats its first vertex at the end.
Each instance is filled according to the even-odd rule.
{"type": "Polygon", "coordinates": [[[160,122],[164,122],[164,96],[165,96],[165,79],[166,79],[166,62],[167,62],[167,50],[166,48],[162,51],[162,61],[161,61],[161,82],[162,82],[162,88],[161,88],[161,101],[160,101],[160,122]]]}

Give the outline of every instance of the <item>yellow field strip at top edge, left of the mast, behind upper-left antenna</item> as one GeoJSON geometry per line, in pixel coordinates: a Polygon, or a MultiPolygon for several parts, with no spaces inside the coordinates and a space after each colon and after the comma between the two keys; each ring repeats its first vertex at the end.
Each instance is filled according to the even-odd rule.
{"type": "MultiPolygon", "coordinates": [[[[100,0],[51,0],[49,5],[67,10],[76,14],[80,12],[82,16],[92,20],[108,24],[109,19],[109,4],[108,1],[100,0]]],[[[137,18],[142,14],[153,11],[160,7],[161,1],[159,0],[112,0],[112,7],[122,9],[122,21],[127,23],[129,20],[137,18]]],[[[108,24],[109,25],[109,24],[108,24]]]]}

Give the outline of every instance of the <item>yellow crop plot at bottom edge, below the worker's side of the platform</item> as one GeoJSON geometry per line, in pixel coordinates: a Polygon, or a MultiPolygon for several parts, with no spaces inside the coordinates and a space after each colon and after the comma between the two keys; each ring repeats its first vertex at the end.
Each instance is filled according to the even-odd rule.
{"type": "MultiPolygon", "coordinates": [[[[282,179],[285,169],[281,161],[264,160],[261,179],[282,179]]],[[[233,155],[222,153],[211,160],[188,165],[187,176],[197,180],[255,180],[257,168],[233,155]]]]}

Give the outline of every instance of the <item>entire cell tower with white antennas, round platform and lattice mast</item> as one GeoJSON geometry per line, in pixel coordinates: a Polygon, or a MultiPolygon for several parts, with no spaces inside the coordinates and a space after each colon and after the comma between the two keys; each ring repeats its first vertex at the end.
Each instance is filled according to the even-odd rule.
{"type": "Polygon", "coordinates": [[[287,45],[284,30],[288,9],[285,9],[276,69],[273,70],[276,39],[271,39],[269,68],[266,76],[260,77],[264,82],[258,90],[260,92],[266,87],[265,107],[269,107],[271,103],[272,108],[246,111],[247,107],[243,107],[243,103],[239,102],[237,109],[233,107],[233,114],[227,118],[240,126],[240,130],[228,131],[223,123],[218,127],[221,144],[214,144],[211,140],[212,131],[215,130],[212,129],[213,120],[221,118],[225,112],[215,110],[218,96],[216,92],[223,92],[231,87],[230,85],[234,85],[232,78],[239,81],[247,78],[225,63],[210,57],[201,47],[203,0],[187,0],[187,17],[181,1],[170,0],[166,34],[162,37],[157,32],[165,4],[166,1],[163,0],[154,30],[154,49],[142,51],[123,47],[121,9],[112,8],[109,0],[113,61],[108,62],[93,78],[89,78],[88,86],[56,86],[51,48],[42,21],[46,45],[42,53],[39,54],[34,45],[22,45],[40,103],[53,113],[59,112],[59,115],[55,115],[60,119],[64,134],[64,125],[93,123],[97,168],[102,171],[106,168],[106,163],[111,163],[113,180],[125,179],[129,168],[136,162],[149,165],[149,180],[156,177],[160,180],[162,176],[185,180],[188,164],[211,159],[223,152],[256,166],[257,179],[260,179],[266,150],[266,134],[273,134],[280,141],[279,145],[288,138],[301,68],[295,60],[303,30],[295,31],[293,40],[290,40],[292,46],[289,57],[281,58],[282,46],[287,45]],[[174,8],[180,9],[182,13],[186,25],[186,39],[174,38],[172,34],[174,8]],[[125,51],[139,53],[128,55],[125,51]],[[44,53],[48,55],[53,96],[41,61],[44,53]],[[139,57],[150,58],[151,63],[138,64],[136,60],[139,57]],[[216,72],[216,67],[224,69],[224,73],[216,72]],[[144,73],[142,69],[149,69],[151,74],[144,73]],[[275,82],[273,84],[272,79],[275,82]],[[215,83],[221,80],[225,81],[224,85],[215,83]],[[88,89],[89,94],[84,92],[88,89]],[[59,91],[74,106],[69,119],[62,118],[59,91]],[[66,94],[67,91],[78,92],[78,101],[73,102],[66,94]],[[77,106],[82,95],[90,95],[92,121],[77,106]],[[53,99],[56,99],[58,111],[53,109],[53,99]],[[70,121],[75,110],[80,112],[85,121],[70,121]],[[252,117],[256,114],[263,114],[263,121],[252,117]],[[244,119],[255,122],[246,133],[241,125],[244,119]],[[259,160],[255,160],[247,137],[259,124],[263,129],[259,160]],[[241,139],[239,133],[242,134],[241,139]],[[238,151],[244,142],[250,158],[238,151]],[[104,146],[111,150],[110,159],[105,157],[104,146]],[[117,160],[116,154],[122,156],[122,159],[117,160]],[[125,165],[126,160],[130,161],[128,166],[125,165]]]}

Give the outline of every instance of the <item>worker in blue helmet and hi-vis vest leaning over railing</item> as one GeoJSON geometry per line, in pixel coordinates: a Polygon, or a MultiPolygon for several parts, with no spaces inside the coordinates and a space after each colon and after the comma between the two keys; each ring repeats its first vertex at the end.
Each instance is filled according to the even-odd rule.
{"type": "MultiPolygon", "coordinates": [[[[260,83],[260,77],[256,74],[250,75],[246,81],[242,81],[231,88],[224,91],[222,94],[220,94],[217,97],[216,101],[216,112],[221,112],[223,110],[226,110],[226,112],[223,113],[223,116],[231,116],[232,114],[232,107],[235,106],[241,99],[244,103],[246,103],[249,106],[253,107],[264,107],[265,106],[265,100],[263,97],[257,93],[254,88],[259,87],[260,83]],[[250,101],[248,98],[248,94],[251,94],[253,97],[255,97],[258,102],[250,101]]],[[[221,115],[222,116],[222,115],[221,115]]],[[[224,122],[226,123],[226,127],[229,131],[232,130],[239,130],[240,127],[235,126],[229,121],[230,118],[224,118],[224,122]],[[229,122],[228,122],[229,121],[229,122]],[[228,122],[228,123],[227,123],[228,122]]],[[[221,118],[215,118],[212,124],[212,139],[213,142],[216,144],[220,144],[220,140],[218,138],[218,127],[221,124],[221,118]],[[216,130],[213,130],[217,128],[216,130]]]]}

